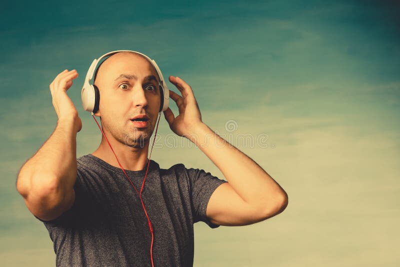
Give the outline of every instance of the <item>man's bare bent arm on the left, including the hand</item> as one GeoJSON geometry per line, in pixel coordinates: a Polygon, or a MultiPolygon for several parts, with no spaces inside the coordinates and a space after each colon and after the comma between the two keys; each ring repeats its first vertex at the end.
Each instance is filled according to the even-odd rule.
{"type": "Polygon", "coordinates": [[[58,116],[50,137],[20,168],[16,188],[27,208],[42,220],[52,220],[72,206],[75,199],[76,133],[82,122],[66,93],[76,70],[65,69],[49,85],[58,116]]]}

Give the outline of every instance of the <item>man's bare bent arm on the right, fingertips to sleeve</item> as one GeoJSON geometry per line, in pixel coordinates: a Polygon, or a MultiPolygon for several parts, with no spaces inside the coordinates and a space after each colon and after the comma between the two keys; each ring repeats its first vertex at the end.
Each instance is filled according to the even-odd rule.
{"type": "Polygon", "coordinates": [[[228,182],[212,193],[206,215],[219,225],[246,225],[282,212],[288,197],[279,184],[256,162],[212,131],[201,121],[191,87],[181,78],[169,76],[181,92],[169,96],[176,102],[179,115],[164,111],[169,127],[179,136],[195,143],[219,168],[228,182]]]}

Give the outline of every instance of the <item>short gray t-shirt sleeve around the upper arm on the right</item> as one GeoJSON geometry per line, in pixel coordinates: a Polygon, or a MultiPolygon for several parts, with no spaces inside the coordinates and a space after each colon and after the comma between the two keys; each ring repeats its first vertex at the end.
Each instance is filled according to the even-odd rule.
{"type": "Polygon", "coordinates": [[[206,209],[208,200],[216,187],[227,181],[219,179],[203,169],[186,168],[186,171],[191,183],[193,222],[203,221],[211,228],[218,227],[218,224],[209,221],[206,209]]]}

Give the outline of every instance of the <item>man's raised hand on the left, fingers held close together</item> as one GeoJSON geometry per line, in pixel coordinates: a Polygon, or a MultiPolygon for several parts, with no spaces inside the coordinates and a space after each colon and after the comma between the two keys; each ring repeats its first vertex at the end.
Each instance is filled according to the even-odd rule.
{"type": "Polygon", "coordinates": [[[65,69],[60,72],[50,83],[50,92],[58,122],[73,121],[76,132],[82,128],[82,121],[78,116],[78,111],[66,91],[72,85],[72,80],[77,78],[78,72],[75,69],[68,71],[65,69]]]}

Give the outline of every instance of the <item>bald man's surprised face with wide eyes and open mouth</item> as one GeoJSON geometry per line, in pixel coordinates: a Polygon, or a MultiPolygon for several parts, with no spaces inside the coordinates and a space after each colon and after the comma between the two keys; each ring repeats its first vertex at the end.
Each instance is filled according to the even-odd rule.
{"type": "Polygon", "coordinates": [[[107,136],[128,146],[148,144],[160,106],[158,75],[151,63],[136,54],[113,54],[99,67],[95,85],[100,92],[95,115],[107,136]],[[132,120],[143,114],[147,122],[132,120]]]}

